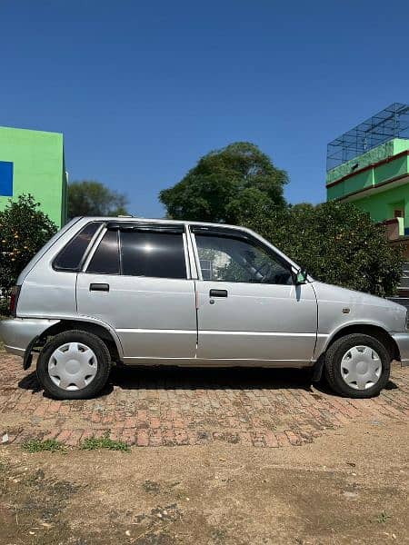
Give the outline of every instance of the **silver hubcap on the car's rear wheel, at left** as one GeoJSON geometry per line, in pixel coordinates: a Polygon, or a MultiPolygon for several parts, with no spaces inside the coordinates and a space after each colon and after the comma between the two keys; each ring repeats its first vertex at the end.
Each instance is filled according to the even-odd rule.
{"type": "Polygon", "coordinates": [[[59,346],[48,362],[48,374],[62,390],[82,390],[95,379],[98,362],[95,353],[81,342],[59,346]]]}

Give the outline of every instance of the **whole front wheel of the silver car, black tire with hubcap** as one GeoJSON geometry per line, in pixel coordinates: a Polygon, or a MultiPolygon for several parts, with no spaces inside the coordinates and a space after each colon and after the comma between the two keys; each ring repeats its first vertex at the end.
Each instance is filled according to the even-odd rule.
{"type": "Polygon", "coordinates": [[[391,354],[374,337],[353,333],[331,344],[324,367],[334,391],[344,397],[370,398],[389,381],[391,354]]]}

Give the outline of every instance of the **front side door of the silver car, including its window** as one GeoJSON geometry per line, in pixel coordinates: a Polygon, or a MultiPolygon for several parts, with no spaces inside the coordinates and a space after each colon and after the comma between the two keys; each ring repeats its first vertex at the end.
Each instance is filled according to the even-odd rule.
{"type": "Polygon", "coordinates": [[[311,283],[295,285],[290,263],[239,231],[192,226],[197,358],[301,366],[311,362],[317,303],[311,283]]]}

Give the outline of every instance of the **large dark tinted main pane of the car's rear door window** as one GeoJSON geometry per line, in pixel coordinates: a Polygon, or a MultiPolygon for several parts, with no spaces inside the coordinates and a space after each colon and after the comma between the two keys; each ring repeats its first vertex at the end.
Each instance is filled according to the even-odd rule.
{"type": "Polygon", "coordinates": [[[182,233],[120,233],[122,273],[157,278],[186,278],[182,233]]]}

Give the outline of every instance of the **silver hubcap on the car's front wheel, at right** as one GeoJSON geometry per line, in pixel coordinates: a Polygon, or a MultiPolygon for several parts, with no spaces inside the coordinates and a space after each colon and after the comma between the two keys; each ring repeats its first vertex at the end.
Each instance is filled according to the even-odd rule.
{"type": "Polygon", "coordinates": [[[345,352],[341,361],[341,376],[354,390],[367,390],[379,381],[381,358],[369,346],[354,346],[345,352]]]}

